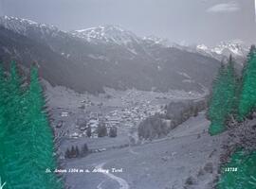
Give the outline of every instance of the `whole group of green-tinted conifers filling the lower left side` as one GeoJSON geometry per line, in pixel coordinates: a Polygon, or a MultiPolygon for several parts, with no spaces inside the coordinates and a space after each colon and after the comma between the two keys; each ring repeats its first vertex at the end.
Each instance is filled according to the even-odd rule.
{"type": "MultiPolygon", "coordinates": [[[[2,66],[2,65],[1,65],[2,66]]],[[[30,69],[28,84],[17,73],[0,68],[0,177],[5,189],[60,189],[54,173],[53,131],[38,70],[30,69]],[[8,73],[8,74],[7,74],[8,73]]]]}

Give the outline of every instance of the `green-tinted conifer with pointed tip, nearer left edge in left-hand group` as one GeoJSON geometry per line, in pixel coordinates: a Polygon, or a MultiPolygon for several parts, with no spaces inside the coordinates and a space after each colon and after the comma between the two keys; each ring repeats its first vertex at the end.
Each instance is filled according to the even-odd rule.
{"type": "Polygon", "coordinates": [[[22,131],[23,107],[22,91],[20,88],[21,79],[18,76],[16,63],[11,62],[9,77],[6,81],[5,89],[6,99],[4,102],[4,125],[6,131],[3,138],[1,154],[1,174],[6,182],[6,189],[9,188],[27,188],[26,182],[21,182],[26,177],[26,161],[24,159],[24,149],[26,149],[26,140],[24,140],[22,131]]]}

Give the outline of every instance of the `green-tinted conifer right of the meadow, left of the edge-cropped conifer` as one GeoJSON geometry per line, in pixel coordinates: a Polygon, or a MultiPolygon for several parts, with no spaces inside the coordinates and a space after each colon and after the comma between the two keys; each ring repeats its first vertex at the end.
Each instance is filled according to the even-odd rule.
{"type": "Polygon", "coordinates": [[[210,99],[210,135],[223,132],[229,115],[235,112],[235,94],[237,78],[234,70],[234,62],[230,56],[227,66],[222,64],[218,76],[213,82],[210,99]]]}

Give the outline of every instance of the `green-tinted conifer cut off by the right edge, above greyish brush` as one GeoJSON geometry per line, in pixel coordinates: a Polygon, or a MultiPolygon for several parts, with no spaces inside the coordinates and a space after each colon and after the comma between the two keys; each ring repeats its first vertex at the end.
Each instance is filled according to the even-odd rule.
{"type": "Polygon", "coordinates": [[[247,64],[243,70],[242,89],[239,100],[239,119],[242,120],[256,108],[256,48],[251,46],[247,64]]]}

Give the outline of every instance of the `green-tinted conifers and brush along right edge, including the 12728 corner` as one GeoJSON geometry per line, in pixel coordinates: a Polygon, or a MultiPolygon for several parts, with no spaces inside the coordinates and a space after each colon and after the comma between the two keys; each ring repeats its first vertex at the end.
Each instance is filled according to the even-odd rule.
{"type": "Polygon", "coordinates": [[[210,135],[229,129],[229,141],[224,149],[229,161],[222,164],[216,188],[256,188],[256,126],[247,118],[255,118],[256,111],[256,48],[251,46],[247,62],[239,77],[230,57],[228,65],[222,65],[216,77],[208,116],[210,135]],[[231,169],[233,170],[229,170],[231,169]]]}

